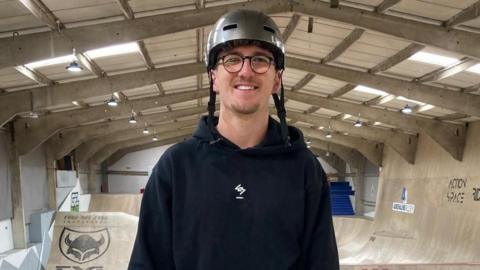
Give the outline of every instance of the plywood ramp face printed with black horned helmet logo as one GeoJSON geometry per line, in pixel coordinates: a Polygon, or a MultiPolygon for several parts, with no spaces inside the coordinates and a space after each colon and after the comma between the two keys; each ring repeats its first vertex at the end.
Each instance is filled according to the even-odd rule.
{"type": "Polygon", "coordinates": [[[127,269],[137,224],[119,212],[58,212],[47,270],[127,269]]]}

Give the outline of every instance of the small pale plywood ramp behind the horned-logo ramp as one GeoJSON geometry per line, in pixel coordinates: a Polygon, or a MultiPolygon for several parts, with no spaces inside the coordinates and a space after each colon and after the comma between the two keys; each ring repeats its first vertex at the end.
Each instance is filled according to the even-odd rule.
{"type": "Polygon", "coordinates": [[[142,194],[92,194],[88,212],[123,212],[138,216],[142,194]]]}

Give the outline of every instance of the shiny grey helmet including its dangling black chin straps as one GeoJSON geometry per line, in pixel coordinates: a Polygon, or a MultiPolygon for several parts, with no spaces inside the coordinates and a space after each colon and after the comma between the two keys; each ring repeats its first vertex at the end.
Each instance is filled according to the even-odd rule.
{"type": "MultiPolygon", "coordinates": [[[[210,77],[208,126],[212,131],[214,131],[216,94],[213,91],[213,80],[210,71],[215,67],[217,56],[221,49],[229,42],[235,40],[259,41],[262,43],[262,46],[264,45],[273,54],[277,70],[285,69],[285,46],[282,34],[270,17],[262,12],[246,9],[231,11],[220,17],[208,35],[205,50],[205,64],[210,77]]],[[[272,94],[272,97],[278,118],[280,119],[281,136],[285,146],[288,147],[290,146],[290,138],[286,123],[283,82],[281,83],[280,97],[276,93],[272,94]]],[[[212,132],[212,134],[216,134],[216,132],[212,132]]]]}

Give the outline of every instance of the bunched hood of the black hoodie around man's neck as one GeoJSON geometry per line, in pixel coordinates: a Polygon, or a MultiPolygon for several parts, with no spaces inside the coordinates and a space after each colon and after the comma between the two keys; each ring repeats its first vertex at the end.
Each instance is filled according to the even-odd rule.
{"type": "MultiPolygon", "coordinates": [[[[214,118],[214,123],[216,126],[218,123],[218,117],[214,118]]],[[[212,146],[223,147],[231,151],[251,155],[282,154],[306,149],[307,146],[304,142],[302,132],[292,126],[288,126],[288,131],[290,135],[290,143],[289,145],[285,145],[282,141],[280,123],[269,117],[267,134],[263,141],[254,147],[241,149],[230,140],[223,137],[216,128],[213,131],[210,130],[208,128],[208,117],[203,116],[198,123],[197,130],[193,134],[193,138],[199,140],[201,143],[208,143],[212,146]]]]}

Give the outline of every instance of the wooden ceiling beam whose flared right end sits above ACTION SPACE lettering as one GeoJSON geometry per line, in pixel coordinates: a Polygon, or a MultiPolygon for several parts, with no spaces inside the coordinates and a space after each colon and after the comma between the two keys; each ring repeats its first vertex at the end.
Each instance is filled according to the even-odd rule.
{"type": "Polygon", "coordinates": [[[362,118],[397,126],[403,130],[420,132],[432,138],[456,160],[461,161],[463,158],[466,138],[464,126],[298,92],[288,91],[285,94],[292,100],[306,104],[350,115],[361,115],[362,118]]]}

